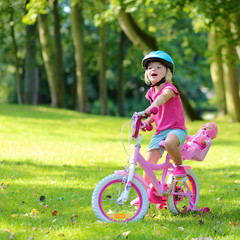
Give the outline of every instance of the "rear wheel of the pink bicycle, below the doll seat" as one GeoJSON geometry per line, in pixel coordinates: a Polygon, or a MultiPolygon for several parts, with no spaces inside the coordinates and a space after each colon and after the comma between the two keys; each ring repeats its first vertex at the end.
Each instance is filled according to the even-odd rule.
{"type": "MultiPolygon", "coordinates": [[[[192,170],[187,170],[187,178],[188,181],[186,184],[192,192],[192,201],[195,206],[198,205],[199,195],[200,195],[200,187],[197,176],[192,170]]],[[[171,178],[171,177],[170,177],[171,178]]],[[[187,187],[182,181],[175,181],[173,192],[177,193],[185,193],[187,191],[187,187]]],[[[168,195],[167,196],[167,206],[170,212],[173,214],[183,213],[188,210],[189,206],[189,198],[184,197],[182,195],[168,195]]]]}

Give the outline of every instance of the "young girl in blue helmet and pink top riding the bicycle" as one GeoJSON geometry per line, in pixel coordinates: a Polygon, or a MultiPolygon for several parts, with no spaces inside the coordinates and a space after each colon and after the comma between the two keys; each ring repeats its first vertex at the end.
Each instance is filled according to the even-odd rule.
{"type": "MultiPolygon", "coordinates": [[[[164,147],[176,166],[173,175],[185,177],[186,172],[178,146],[185,141],[187,131],[179,92],[172,84],[174,62],[167,53],[153,51],[143,58],[142,67],[145,69],[145,82],[150,85],[146,98],[151,105],[145,112],[150,115],[150,109],[158,107],[158,113],[151,115],[145,121],[146,125],[152,122],[156,125],[156,132],[148,147],[146,160],[157,164],[163,154],[159,142],[165,140],[164,147]]],[[[143,176],[150,183],[145,173],[143,176]]]]}

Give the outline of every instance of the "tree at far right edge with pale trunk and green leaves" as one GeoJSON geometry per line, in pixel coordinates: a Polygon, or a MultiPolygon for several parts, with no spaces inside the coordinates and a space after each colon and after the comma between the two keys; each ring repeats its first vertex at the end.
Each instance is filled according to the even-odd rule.
{"type": "MultiPolygon", "coordinates": [[[[240,31],[238,24],[233,21],[239,19],[239,17],[237,17],[239,16],[240,12],[238,1],[196,0],[193,1],[192,4],[193,5],[189,6],[188,11],[196,20],[195,24],[199,25],[200,23],[200,25],[204,27],[204,30],[207,30],[209,32],[210,41],[213,41],[211,39],[213,37],[213,33],[211,32],[212,29],[218,29],[219,34],[217,35],[218,39],[217,42],[215,42],[215,46],[216,48],[219,48],[219,46],[222,48],[221,54],[224,84],[221,84],[221,87],[223,87],[221,90],[215,90],[217,97],[221,98],[218,99],[219,103],[223,102],[223,96],[221,94],[219,95],[219,92],[225,92],[227,112],[230,115],[232,121],[240,122],[240,97],[237,66],[239,59],[236,52],[236,49],[240,45],[240,31]],[[193,8],[194,11],[192,11],[193,8]],[[192,12],[195,12],[195,15],[193,15],[192,12]],[[196,16],[198,15],[202,16],[200,22],[199,19],[196,19],[196,16]]],[[[212,49],[213,44],[209,44],[209,47],[212,49]]],[[[220,53],[218,53],[218,55],[220,55],[220,53]]],[[[219,57],[218,64],[220,59],[219,57]]],[[[216,61],[216,58],[213,58],[212,61],[216,61]]],[[[218,67],[218,70],[221,71],[220,66],[218,67]]],[[[214,71],[212,71],[212,74],[214,74],[214,71]]],[[[221,74],[212,75],[212,79],[215,82],[221,83],[221,78],[221,74]]]]}

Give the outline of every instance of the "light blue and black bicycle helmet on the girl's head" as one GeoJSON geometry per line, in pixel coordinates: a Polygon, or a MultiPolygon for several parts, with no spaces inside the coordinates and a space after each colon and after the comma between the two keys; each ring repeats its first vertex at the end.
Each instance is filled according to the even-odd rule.
{"type": "Polygon", "coordinates": [[[142,67],[146,69],[150,62],[160,62],[166,67],[168,67],[173,73],[174,62],[172,58],[163,51],[153,51],[147,54],[142,60],[142,67]]]}

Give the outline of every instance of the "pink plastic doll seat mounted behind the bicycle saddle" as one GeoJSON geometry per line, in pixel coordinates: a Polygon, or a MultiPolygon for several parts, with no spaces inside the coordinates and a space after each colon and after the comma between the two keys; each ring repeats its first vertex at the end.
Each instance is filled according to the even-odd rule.
{"type": "Polygon", "coordinates": [[[204,149],[186,149],[183,147],[181,150],[182,153],[182,158],[183,160],[195,160],[195,161],[203,161],[204,158],[206,157],[208,150],[210,149],[212,143],[210,143],[208,146],[206,146],[204,149]]]}

